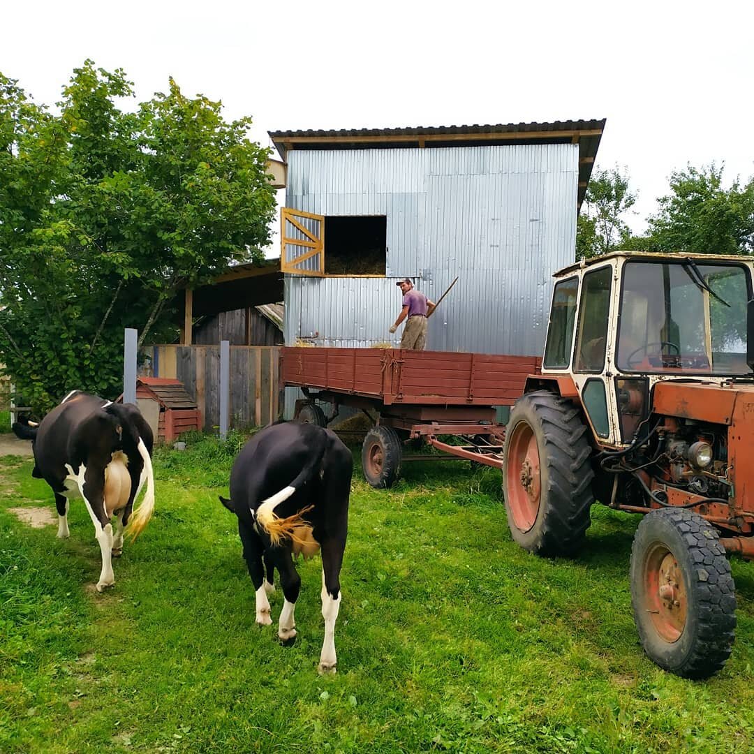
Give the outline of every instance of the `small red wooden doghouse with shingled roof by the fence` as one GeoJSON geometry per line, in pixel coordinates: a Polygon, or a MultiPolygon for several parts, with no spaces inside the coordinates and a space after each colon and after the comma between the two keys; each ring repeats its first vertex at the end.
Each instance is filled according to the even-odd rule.
{"type": "MultiPolygon", "coordinates": [[[[122,400],[121,395],[118,403],[122,400]]],[[[152,427],[155,442],[172,443],[182,432],[201,431],[201,411],[177,379],[137,377],[136,404],[152,427]]]]}

